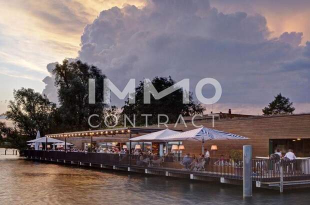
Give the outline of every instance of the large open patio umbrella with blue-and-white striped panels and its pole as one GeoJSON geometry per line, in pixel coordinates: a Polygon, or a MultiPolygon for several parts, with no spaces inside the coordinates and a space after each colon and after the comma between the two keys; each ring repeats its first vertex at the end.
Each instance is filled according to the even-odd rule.
{"type": "Polygon", "coordinates": [[[204,141],[206,140],[234,140],[234,139],[249,139],[244,136],[232,134],[225,131],[211,129],[207,127],[199,127],[184,132],[179,132],[170,136],[160,137],[160,140],[167,141],[182,141],[182,140],[194,140],[202,142],[202,152],[204,149],[204,141]]]}

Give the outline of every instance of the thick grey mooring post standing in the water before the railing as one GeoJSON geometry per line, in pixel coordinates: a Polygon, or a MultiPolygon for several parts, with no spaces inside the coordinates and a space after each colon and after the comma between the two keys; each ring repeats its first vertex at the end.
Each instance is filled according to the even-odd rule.
{"type": "Polygon", "coordinates": [[[243,145],[243,197],[252,196],[252,146],[243,145]]]}

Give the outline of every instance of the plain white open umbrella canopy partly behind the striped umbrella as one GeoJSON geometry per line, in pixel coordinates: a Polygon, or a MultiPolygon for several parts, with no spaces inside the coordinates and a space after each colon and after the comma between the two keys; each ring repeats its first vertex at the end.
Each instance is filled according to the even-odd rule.
{"type": "Polygon", "coordinates": [[[161,140],[162,137],[170,136],[170,135],[177,134],[177,133],[180,133],[180,132],[166,128],[160,131],[155,131],[149,134],[144,134],[142,136],[133,137],[133,138],[130,138],[129,140],[132,140],[132,141],[164,141],[164,140],[161,140]]]}

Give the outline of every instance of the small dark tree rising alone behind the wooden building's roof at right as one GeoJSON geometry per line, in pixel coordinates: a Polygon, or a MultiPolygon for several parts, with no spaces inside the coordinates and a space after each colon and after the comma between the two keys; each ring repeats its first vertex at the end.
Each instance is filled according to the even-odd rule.
{"type": "Polygon", "coordinates": [[[274,100],[269,105],[262,109],[264,115],[270,114],[284,114],[292,113],[295,108],[292,106],[293,103],[289,101],[288,97],[282,96],[281,93],[274,96],[274,100]]]}

